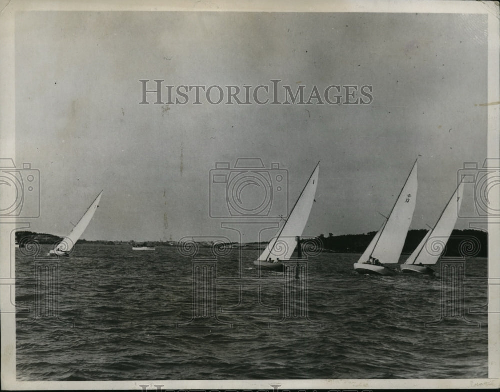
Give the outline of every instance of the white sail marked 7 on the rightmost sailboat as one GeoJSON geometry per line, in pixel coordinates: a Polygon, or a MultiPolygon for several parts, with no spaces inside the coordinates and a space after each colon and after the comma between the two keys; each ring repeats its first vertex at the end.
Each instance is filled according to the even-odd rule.
{"type": "Polygon", "coordinates": [[[417,253],[413,264],[434,265],[439,260],[441,255],[439,250],[444,248],[455,227],[458,211],[462,204],[462,196],[463,183],[460,182],[437,220],[434,229],[431,230],[432,234],[428,236],[424,246],[417,253]]]}

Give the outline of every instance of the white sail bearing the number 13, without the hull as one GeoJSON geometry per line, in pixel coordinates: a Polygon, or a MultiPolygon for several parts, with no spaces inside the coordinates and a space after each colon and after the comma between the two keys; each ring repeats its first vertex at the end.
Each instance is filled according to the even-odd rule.
{"type": "Polygon", "coordinates": [[[399,262],[415,210],[417,188],[415,161],[371,254],[383,264],[397,264],[399,262]]]}

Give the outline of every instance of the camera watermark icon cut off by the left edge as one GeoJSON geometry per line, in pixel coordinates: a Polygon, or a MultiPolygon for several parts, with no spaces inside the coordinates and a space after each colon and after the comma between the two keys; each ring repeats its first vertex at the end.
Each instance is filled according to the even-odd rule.
{"type": "Polygon", "coordinates": [[[38,218],[40,216],[40,171],[31,163],[15,166],[13,159],[0,158],[0,216],[38,218]]]}

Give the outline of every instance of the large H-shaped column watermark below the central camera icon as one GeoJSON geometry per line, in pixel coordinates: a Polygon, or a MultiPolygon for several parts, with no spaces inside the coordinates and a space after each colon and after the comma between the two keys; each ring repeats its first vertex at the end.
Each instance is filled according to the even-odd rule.
{"type": "MultiPolygon", "coordinates": [[[[293,237],[292,239],[297,244],[297,238],[293,237]]],[[[177,245],[177,251],[181,256],[192,259],[193,299],[191,319],[187,322],[177,322],[177,328],[232,328],[232,323],[218,319],[220,313],[226,315],[239,312],[252,314],[277,313],[277,311],[270,311],[269,306],[261,303],[262,286],[265,287],[264,291],[277,287],[281,288],[283,292],[281,319],[270,322],[269,328],[321,328],[323,326],[321,322],[309,319],[307,288],[307,254],[319,254],[320,246],[321,243],[316,238],[299,239],[297,258],[282,261],[283,274],[281,275],[267,276],[265,278],[218,277],[217,263],[219,258],[228,256],[231,251],[238,250],[238,248],[234,247],[227,237],[182,238],[177,245]],[[202,248],[205,248],[205,250],[202,250],[202,248]],[[302,248],[304,248],[303,251],[302,248]],[[209,249],[209,251],[206,249],[209,249]],[[236,307],[243,301],[242,287],[255,287],[255,295],[248,295],[248,298],[246,298],[252,297],[253,306],[251,306],[250,302],[245,302],[249,310],[218,309],[217,286],[239,286],[239,303],[236,307]]]]}

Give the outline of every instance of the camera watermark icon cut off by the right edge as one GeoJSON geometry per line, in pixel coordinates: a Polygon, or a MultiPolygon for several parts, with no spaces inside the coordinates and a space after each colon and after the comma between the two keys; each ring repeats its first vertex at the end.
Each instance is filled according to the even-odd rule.
{"type": "Polygon", "coordinates": [[[500,191],[500,159],[484,160],[482,167],[477,162],[464,162],[463,169],[458,170],[458,183],[472,187],[474,195],[474,213],[460,212],[462,218],[492,218],[500,217],[500,205],[494,199],[494,192],[500,191]]]}

